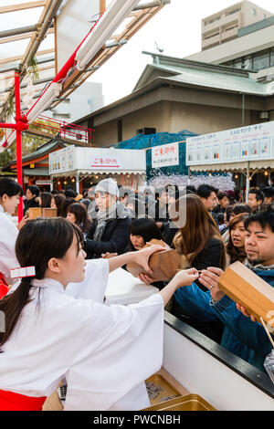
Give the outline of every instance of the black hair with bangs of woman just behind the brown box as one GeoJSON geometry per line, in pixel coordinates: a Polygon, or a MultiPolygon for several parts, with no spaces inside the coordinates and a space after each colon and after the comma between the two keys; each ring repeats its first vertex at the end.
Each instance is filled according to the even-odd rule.
{"type": "MultiPolygon", "coordinates": [[[[144,244],[148,241],[151,241],[153,238],[156,238],[157,240],[163,240],[163,235],[161,234],[160,229],[155,224],[155,221],[149,217],[134,219],[131,224],[130,234],[141,235],[144,240],[144,244]]],[[[133,250],[136,249],[132,245],[132,241],[130,239],[129,251],[132,252],[133,250]]]]}

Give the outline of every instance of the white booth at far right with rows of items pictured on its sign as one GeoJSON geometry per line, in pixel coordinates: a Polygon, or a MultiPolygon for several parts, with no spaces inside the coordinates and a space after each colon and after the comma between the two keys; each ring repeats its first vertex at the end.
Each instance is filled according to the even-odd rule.
{"type": "Polygon", "coordinates": [[[270,181],[274,169],[274,121],[186,139],[186,165],[195,172],[235,172],[252,176],[262,171],[270,181]]]}

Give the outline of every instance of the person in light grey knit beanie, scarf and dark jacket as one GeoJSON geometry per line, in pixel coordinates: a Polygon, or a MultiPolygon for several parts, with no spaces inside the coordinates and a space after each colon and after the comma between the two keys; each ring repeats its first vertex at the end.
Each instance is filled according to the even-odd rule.
{"type": "Polygon", "coordinates": [[[118,197],[119,189],[113,179],[103,179],[95,187],[98,212],[94,212],[96,217],[84,242],[87,259],[126,251],[132,219],[118,197]]]}

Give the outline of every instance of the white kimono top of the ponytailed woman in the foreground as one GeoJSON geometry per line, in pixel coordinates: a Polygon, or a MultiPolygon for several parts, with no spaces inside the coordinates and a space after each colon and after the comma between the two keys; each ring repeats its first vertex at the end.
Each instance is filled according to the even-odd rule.
{"type": "Polygon", "coordinates": [[[87,262],[86,279],[66,290],[33,280],[32,301],[2,346],[0,389],[49,396],[65,376],[65,410],[142,409],[150,404],[143,381],[163,361],[163,298],[103,305],[109,262],[87,262]]]}

